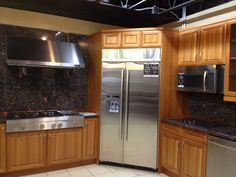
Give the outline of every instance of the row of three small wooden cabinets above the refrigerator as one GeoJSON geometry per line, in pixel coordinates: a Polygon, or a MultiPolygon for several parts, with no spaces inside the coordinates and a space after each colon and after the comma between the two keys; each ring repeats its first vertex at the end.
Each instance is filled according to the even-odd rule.
{"type": "Polygon", "coordinates": [[[102,33],[102,48],[161,47],[159,30],[120,30],[102,33]]]}

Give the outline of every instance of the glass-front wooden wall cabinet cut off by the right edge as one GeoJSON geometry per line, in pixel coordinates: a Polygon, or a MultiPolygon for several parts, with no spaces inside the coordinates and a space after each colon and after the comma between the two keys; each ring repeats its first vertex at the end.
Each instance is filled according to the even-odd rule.
{"type": "Polygon", "coordinates": [[[224,101],[236,102],[236,20],[228,22],[224,101]]]}

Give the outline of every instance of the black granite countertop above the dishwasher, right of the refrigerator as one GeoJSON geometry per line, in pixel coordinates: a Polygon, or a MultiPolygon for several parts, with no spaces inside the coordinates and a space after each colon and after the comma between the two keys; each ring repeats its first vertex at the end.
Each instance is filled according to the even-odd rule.
{"type": "Polygon", "coordinates": [[[164,119],[162,122],[236,141],[236,126],[228,122],[210,122],[196,119],[164,119]]]}

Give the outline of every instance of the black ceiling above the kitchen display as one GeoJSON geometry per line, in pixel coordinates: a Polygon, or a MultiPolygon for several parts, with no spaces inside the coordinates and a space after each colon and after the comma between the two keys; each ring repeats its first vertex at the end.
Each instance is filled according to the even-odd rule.
{"type": "Polygon", "coordinates": [[[0,6],[123,27],[153,27],[178,20],[182,15],[181,8],[163,12],[176,6],[181,7],[182,3],[190,3],[187,5],[187,14],[192,14],[228,1],[230,0],[0,0],[0,6]],[[129,9],[139,2],[142,3],[129,9]],[[163,14],[158,15],[159,13],[163,14]]]}

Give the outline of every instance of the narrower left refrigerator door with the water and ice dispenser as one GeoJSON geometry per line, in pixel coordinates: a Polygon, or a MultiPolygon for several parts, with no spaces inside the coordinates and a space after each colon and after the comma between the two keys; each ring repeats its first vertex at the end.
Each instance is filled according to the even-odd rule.
{"type": "Polygon", "coordinates": [[[101,161],[123,162],[124,69],[125,63],[102,63],[101,161]]]}

